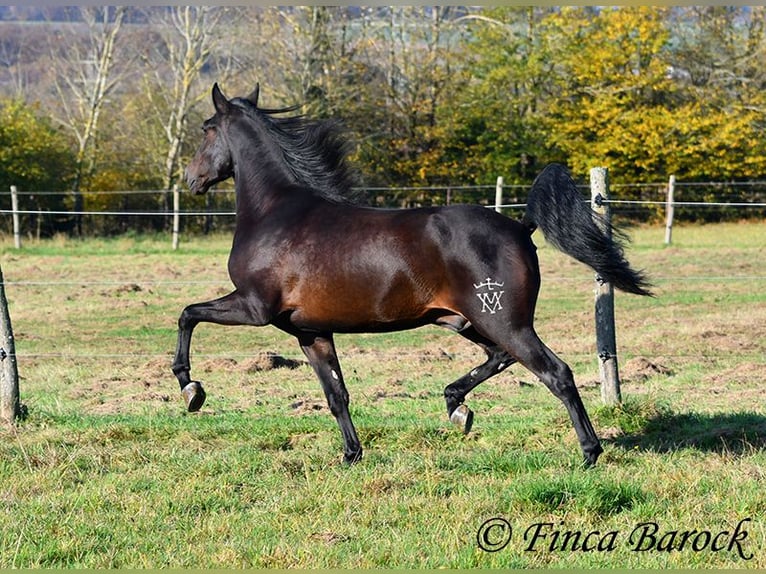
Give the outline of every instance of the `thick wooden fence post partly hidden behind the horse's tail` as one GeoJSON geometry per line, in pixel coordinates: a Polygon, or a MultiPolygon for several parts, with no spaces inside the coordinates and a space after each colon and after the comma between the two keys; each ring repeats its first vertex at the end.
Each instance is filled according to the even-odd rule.
{"type": "MultiPolygon", "coordinates": [[[[599,217],[596,223],[606,234],[611,234],[608,225],[611,217],[609,205],[609,172],[606,168],[590,170],[591,207],[599,217]]],[[[596,349],[601,376],[601,400],[607,405],[622,401],[620,376],[617,369],[617,337],[614,326],[614,288],[596,276],[596,349]]]]}

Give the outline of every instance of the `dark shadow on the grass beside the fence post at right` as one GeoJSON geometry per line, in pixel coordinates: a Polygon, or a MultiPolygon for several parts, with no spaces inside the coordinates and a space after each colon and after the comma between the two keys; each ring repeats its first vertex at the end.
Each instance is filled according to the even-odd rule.
{"type": "Polygon", "coordinates": [[[696,449],[720,454],[751,454],[766,448],[766,417],[757,413],[673,413],[659,411],[640,428],[605,442],[625,450],[673,452],[696,449]]]}

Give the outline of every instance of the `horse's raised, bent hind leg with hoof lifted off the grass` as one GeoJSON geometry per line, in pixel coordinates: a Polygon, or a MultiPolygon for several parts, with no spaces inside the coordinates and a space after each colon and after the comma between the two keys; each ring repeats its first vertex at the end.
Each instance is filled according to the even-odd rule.
{"type": "Polygon", "coordinates": [[[454,383],[447,385],[444,389],[447,416],[449,416],[453,424],[463,431],[463,434],[468,434],[473,425],[473,411],[463,403],[466,395],[490,377],[502,373],[515,363],[516,359],[489,339],[485,339],[476,333],[473,327],[469,326],[458,332],[466,339],[479,345],[487,353],[487,361],[485,363],[472,369],[469,373],[463,375],[454,383]]]}

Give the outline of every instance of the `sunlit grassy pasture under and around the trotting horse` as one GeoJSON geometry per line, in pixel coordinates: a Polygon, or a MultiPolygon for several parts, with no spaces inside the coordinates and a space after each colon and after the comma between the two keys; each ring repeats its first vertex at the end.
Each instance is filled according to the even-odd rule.
{"type": "Polygon", "coordinates": [[[29,416],[0,427],[0,568],[766,568],[766,223],[677,227],[672,247],[658,227],[631,235],[658,296],[617,295],[617,409],[600,406],[592,273],[535,237],[538,331],[605,442],[587,471],[563,406],[518,366],[469,395],[474,431],[454,431],[443,387],[483,357],[437,328],[338,336],[353,467],[271,328],[197,329],[208,402],[186,414],[175,324],[228,291],[228,237],[175,253],[165,237],[3,240],[29,416]],[[492,518],[512,527],[497,552],[477,543],[492,518]]]}

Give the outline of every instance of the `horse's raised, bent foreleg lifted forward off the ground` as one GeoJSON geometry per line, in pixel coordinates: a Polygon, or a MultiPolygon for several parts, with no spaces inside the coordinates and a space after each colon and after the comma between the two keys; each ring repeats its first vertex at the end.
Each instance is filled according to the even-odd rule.
{"type": "Polygon", "coordinates": [[[247,304],[246,299],[238,291],[214,301],[189,305],[182,311],[178,318],[178,343],[172,369],[173,374],[178,379],[189,412],[198,411],[205,403],[206,397],[202,383],[193,381],[190,375],[189,348],[192,333],[199,323],[216,323],[218,325],[265,324],[257,317],[252,306],[247,304]]]}

